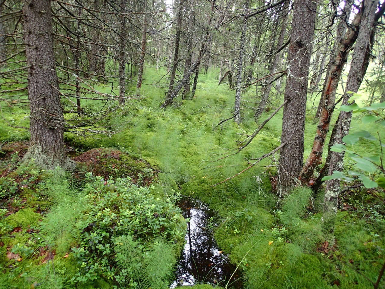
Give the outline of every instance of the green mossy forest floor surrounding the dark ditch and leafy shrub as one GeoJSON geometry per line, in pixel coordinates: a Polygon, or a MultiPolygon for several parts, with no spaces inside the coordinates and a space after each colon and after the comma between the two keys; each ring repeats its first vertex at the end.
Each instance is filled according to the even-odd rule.
{"type": "MultiPolygon", "coordinates": [[[[101,203],[107,202],[106,198],[120,189],[119,181],[113,183],[117,178],[128,178],[133,193],[138,192],[140,186],[148,187],[148,192],[143,194],[154,200],[159,210],[175,216],[179,213],[169,204],[178,192],[199,198],[216,210],[219,219],[215,222],[221,225],[214,236],[223,252],[242,270],[245,288],[373,288],[372,282],[376,281],[384,260],[385,193],[361,188],[344,192],[337,215],[336,242],[329,244],[328,236],[321,230],[322,192],[315,196],[307,188],[298,188],[276,207],[271,181],[276,178],[277,156],[261,161],[259,166],[226,183],[213,186],[244,170],[247,160],[279,146],[282,114],[274,116],[239,154],[217,161],[223,154],[238,148],[239,141],[256,129],[253,112],[244,110],[241,126],[227,121],[213,130],[221,120],[231,117],[234,102],[234,91],[228,90],[226,85],[218,86],[214,72],[201,76],[194,99],[177,99],[175,106],[159,109],[166,89],[151,84],[159,80],[160,73],[148,70],[142,89],[145,98],[129,104],[120,115],[110,119],[111,126],[121,128],[119,133],[85,139],[74,134],[65,135],[68,154],[80,162],[77,171],[71,174],[20,165],[20,158],[27,149],[28,134],[8,127],[4,121],[0,123],[0,262],[3,270],[0,288],[118,286],[115,273],[101,276],[99,271],[82,265],[82,262],[101,263],[105,254],[97,251],[99,249],[89,252],[92,258],[72,250],[80,248],[86,240],[89,242],[88,233],[97,225],[102,227],[96,222],[84,223],[88,222],[88,217],[80,217],[97,215],[88,207],[85,196],[95,194],[101,203]],[[104,187],[100,187],[101,178],[104,187]],[[105,188],[109,182],[113,189],[105,188]],[[90,188],[96,193],[91,193],[90,188]],[[83,219],[83,223],[79,221],[83,219]],[[77,235],[73,233],[78,231],[77,235]],[[83,261],[79,264],[79,260],[83,261]]],[[[95,88],[110,93],[109,86],[100,84],[95,88]]],[[[131,91],[135,91],[134,87],[131,91]]],[[[246,105],[256,101],[254,95],[251,88],[244,93],[246,105]]],[[[278,106],[280,101],[280,94],[276,98],[273,96],[270,108],[278,106]]],[[[308,101],[306,116],[305,158],[310,153],[316,131],[312,102],[308,101]]],[[[82,105],[86,108],[94,104],[82,105]]],[[[3,118],[14,126],[27,126],[27,115],[28,111],[22,108],[10,107],[3,111],[3,118]]],[[[261,121],[267,116],[266,112],[261,121]]],[[[364,129],[378,131],[376,124],[366,124],[364,128],[359,118],[353,119],[352,131],[364,129]]],[[[380,131],[380,134],[385,137],[385,132],[380,131]]],[[[364,140],[355,145],[354,151],[372,154],[378,151],[378,144],[364,140]]],[[[346,158],[346,170],[353,164],[346,158]]],[[[115,200],[113,198],[109,200],[115,200]]],[[[92,202],[95,205],[96,201],[92,202]]],[[[119,206],[109,201],[106,206],[117,213],[119,209],[115,205],[119,206]]],[[[100,209],[99,213],[105,214],[104,211],[100,209]]],[[[151,216],[148,219],[159,219],[154,214],[151,216]]],[[[146,226],[147,221],[143,220],[146,226]]],[[[131,268],[128,276],[131,276],[133,287],[169,286],[167,282],[183,243],[179,237],[184,234],[185,223],[180,221],[175,227],[179,221],[167,223],[166,218],[164,222],[166,224],[158,228],[159,235],[163,234],[161,239],[146,230],[142,232],[142,226],[133,231],[142,234],[138,239],[125,240],[125,244],[131,244],[129,252],[135,252],[130,255],[131,259],[124,259],[124,264],[131,268]],[[159,267],[164,270],[159,271],[159,267]]],[[[123,238],[115,237],[117,240],[123,238]]],[[[120,241],[111,246],[116,244],[120,241]]],[[[122,259],[114,259],[108,265],[119,266],[119,262],[123,262],[122,259]]],[[[124,279],[124,276],[118,276],[118,280],[122,280],[119,278],[124,279]]],[[[127,282],[121,281],[121,284],[127,282]]],[[[382,281],[382,286],[384,284],[382,281]]],[[[210,287],[197,288],[206,286],[210,287]]]]}

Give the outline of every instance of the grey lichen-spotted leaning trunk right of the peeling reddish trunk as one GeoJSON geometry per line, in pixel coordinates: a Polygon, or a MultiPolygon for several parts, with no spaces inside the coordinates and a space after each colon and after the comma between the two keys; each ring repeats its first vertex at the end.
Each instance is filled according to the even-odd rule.
{"type": "MultiPolygon", "coordinates": [[[[352,62],[350,63],[350,70],[346,82],[345,94],[343,97],[343,105],[350,105],[348,100],[352,94],[346,92],[357,92],[365,76],[369,65],[370,55],[374,44],[376,10],[377,0],[365,0],[363,2],[363,15],[358,32],[357,41],[352,55],[352,62]]],[[[385,7],[385,4],[383,4],[385,7]]],[[[382,13],[384,10],[382,10],[382,13]]],[[[349,134],[350,122],[352,120],[352,111],[341,111],[335,125],[333,145],[343,143],[344,136],[349,134]]],[[[333,171],[343,171],[343,157],[344,152],[338,153],[329,151],[330,163],[328,168],[328,175],[332,175],[333,171]]],[[[333,233],[335,225],[335,217],[337,213],[338,195],[340,193],[340,180],[326,181],[325,200],[323,205],[323,229],[325,232],[333,233]]]]}

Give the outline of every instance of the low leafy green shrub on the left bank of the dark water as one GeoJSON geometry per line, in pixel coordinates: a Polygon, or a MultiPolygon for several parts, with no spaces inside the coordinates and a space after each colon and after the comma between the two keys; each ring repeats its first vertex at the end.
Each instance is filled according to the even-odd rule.
{"type": "MultiPolygon", "coordinates": [[[[148,271],[149,265],[146,264],[150,263],[159,265],[159,262],[149,261],[154,259],[154,250],[158,252],[156,255],[162,251],[165,260],[169,259],[161,269],[170,271],[175,260],[169,256],[175,251],[170,249],[169,243],[182,243],[186,231],[186,221],[174,205],[178,195],[155,198],[149,188],[138,188],[128,179],[107,182],[101,177],[94,178],[86,191],[82,215],[75,223],[77,247],[72,250],[80,271],[72,278],[73,282],[92,281],[102,273],[121,286],[134,286],[139,282],[135,278],[138,270],[148,271]],[[159,238],[166,242],[162,250],[159,250],[159,245],[154,245],[163,244],[159,238]]],[[[153,272],[157,271],[154,269],[153,272]]],[[[158,279],[153,278],[155,283],[164,281],[165,272],[159,274],[158,279]]]]}

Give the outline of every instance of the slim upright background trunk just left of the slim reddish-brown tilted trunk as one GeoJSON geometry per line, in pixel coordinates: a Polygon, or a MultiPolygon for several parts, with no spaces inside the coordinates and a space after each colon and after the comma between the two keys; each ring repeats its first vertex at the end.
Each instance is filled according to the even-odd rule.
{"type": "Polygon", "coordinates": [[[122,0],[121,7],[121,31],[119,37],[119,103],[124,104],[126,99],[126,0],[122,0]]]}

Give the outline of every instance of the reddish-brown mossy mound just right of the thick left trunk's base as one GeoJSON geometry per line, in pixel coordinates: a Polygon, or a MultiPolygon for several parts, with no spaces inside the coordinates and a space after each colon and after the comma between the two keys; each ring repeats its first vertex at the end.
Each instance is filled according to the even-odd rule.
{"type": "Polygon", "coordinates": [[[129,177],[133,183],[149,185],[159,172],[151,160],[147,161],[114,148],[92,149],[76,156],[74,160],[79,162],[76,178],[81,178],[84,171],[89,171],[94,176],[102,176],[104,180],[129,177]]]}

